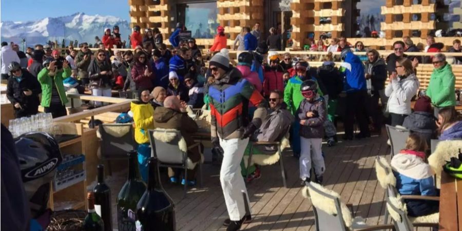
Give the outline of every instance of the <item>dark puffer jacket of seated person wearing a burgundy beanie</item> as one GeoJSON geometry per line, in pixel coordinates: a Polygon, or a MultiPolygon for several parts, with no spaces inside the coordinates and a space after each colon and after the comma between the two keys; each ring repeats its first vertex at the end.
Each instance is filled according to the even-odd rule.
{"type": "Polygon", "coordinates": [[[430,144],[430,139],[435,138],[436,124],[433,113],[414,111],[405,118],[402,126],[420,134],[428,144],[430,144]]]}

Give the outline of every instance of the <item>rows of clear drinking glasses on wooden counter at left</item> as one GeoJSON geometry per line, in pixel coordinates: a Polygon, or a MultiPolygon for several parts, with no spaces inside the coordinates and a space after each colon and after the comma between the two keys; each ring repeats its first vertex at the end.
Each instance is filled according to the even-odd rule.
{"type": "Polygon", "coordinates": [[[22,117],[10,120],[9,129],[13,137],[34,131],[43,131],[50,133],[53,125],[51,113],[38,113],[30,117],[22,117]]]}

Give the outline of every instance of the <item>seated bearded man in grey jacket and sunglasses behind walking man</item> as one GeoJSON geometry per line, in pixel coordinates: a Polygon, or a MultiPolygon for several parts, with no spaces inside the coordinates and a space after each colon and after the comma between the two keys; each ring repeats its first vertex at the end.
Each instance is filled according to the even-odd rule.
{"type": "MultiPolygon", "coordinates": [[[[281,141],[283,136],[288,132],[289,127],[295,121],[294,116],[290,111],[288,111],[284,103],[284,93],[279,90],[273,90],[269,94],[269,111],[266,114],[265,119],[263,120],[259,129],[255,131],[251,137],[251,141],[259,142],[276,142],[281,141]]],[[[250,153],[252,142],[249,142],[245,151],[244,156],[248,156],[250,153]]],[[[278,147],[275,145],[265,145],[265,146],[254,146],[252,149],[253,155],[266,154],[272,155],[278,151],[278,147]]],[[[255,157],[255,156],[254,156],[255,157]]],[[[270,156],[268,156],[270,157],[270,156]]],[[[252,158],[254,160],[254,158],[252,158]]],[[[245,160],[245,158],[244,158],[245,160]]],[[[247,163],[245,163],[247,164],[247,163]]],[[[245,175],[246,169],[244,164],[241,164],[242,174],[245,175]]],[[[250,182],[254,179],[261,177],[260,169],[257,165],[251,166],[249,168],[249,174],[247,177],[247,182],[250,182]],[[253,172],[250,174],[250,172],[253,172]]]]}

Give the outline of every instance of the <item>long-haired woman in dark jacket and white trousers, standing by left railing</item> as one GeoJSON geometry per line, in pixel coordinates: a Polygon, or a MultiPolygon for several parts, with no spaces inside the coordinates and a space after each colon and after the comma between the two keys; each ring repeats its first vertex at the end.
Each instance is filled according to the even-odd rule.
{"type": "MultiPolygon", "coordinates": [[[[99,49],[95,56],[88,66],[91,95],[111,97],[112,68],[106,59],[106,51],[99,49]]],[[[102,104],[102,102],[94,102],[95,107],[102,106],[102,104]]]]}

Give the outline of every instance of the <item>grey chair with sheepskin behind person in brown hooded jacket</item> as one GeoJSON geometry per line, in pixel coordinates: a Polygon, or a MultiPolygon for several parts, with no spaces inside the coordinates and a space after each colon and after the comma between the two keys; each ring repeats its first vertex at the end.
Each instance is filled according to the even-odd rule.
{"type": "MultiPolygon", "coordinates": [[[[159,161],[159,167],[181,168],[184,170],[184,179],[187,179],[187,169],[194,169],[198,164],[199,184],[202,186],[202,162],[203,157],[201,153],[201,160],[198,163],[192,163],[187,156],[187,151],[192,148],[198,148],[199,152],[200,143],[195,143],[189,147],[181,136],[180,131],[175,129],[153,129],[149,130],[149,142],[151,144],[151,156],[159,161]]],[[[187,192],[187,182],[184,184],[184,196],[187,192]]]]}

